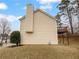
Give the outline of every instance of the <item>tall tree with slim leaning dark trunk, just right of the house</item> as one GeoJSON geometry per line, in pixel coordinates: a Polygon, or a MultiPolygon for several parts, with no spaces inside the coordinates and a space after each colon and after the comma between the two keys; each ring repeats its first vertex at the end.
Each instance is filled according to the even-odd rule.
{"type": "Polygon", "coordinates": [[[64,15],[69,19],[71,33],[73,34],[72,15],[71,15],[72,8],[69,7],[69,4],[70,4],[69,0],[62,0],[62,2],[59,4],[59,10],[62,13],[65,12],[64,15]]]}

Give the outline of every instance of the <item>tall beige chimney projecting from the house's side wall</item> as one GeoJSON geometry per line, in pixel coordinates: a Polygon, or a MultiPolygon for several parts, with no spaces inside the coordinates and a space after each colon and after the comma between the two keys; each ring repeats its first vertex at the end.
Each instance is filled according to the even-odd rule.
{"type": "Polygon", "coordinates": [[[32,33],[33,32],[33,6],[31,4],[27,5],[27,16],[26,16],[26,32],[32,33]]]}

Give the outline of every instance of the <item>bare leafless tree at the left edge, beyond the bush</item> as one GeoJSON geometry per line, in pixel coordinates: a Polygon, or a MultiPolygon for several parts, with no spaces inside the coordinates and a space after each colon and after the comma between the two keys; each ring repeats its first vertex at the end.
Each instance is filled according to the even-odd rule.
{"type": "Polygon", "coordinates": [[[0,35],[1,35],[1,45],[3,44],[3,40],[7,43],[7,38],[10,33],[9,22],[6,18],[0,19],[0,35]]]}

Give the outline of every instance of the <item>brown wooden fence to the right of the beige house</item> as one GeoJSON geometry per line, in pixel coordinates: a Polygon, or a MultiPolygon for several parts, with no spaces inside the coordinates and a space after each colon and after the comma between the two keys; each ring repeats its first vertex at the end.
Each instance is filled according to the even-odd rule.
{"type": "MultiPolygon", "coordinates": [[[[70,46],[78,46],[79,45],[79,34],[69,34],[69,45],[70,46]]],[[[64,36],[64,44],[63,44],[63,38],[61,35],[58,37],[58,43],[59,45],[68,45],[68,42],[66,40],[66,36],[64,36]]]]}

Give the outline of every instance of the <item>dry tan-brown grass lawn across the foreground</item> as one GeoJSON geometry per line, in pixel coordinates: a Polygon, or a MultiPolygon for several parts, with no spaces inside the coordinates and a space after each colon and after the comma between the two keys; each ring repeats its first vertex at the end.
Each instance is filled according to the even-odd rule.
{"type": "Polygon", "coordinates": [[[0,49],[0,59],[79,59],[79,48],[59,45],[26,45],[0,49]]]}

